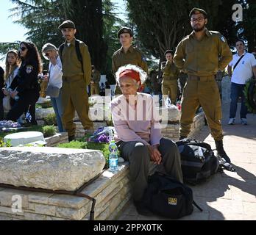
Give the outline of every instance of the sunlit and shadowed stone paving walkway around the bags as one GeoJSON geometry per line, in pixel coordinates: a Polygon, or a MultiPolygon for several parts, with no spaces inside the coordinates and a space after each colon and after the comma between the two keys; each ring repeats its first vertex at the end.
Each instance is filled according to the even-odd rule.
{"type": "MultiPolygon", "coordinates": [[[[191,215],[180,220],[256,220],[256,115],[249,114],[249,125],[242,126],[237,112],[235,125],[228,126],[229,104],[224,104],[222,109],[224,149],[236,172],[225,170],[224,173],[216,173],[204,184],[191,187],[194,200],[204,211],[194,208],[191,215]]],[[[216,148],[207,126],[197,139],[216,148]]],[[[129,202],[117,220],[168,219],[141,216],[129,202]]]]}

